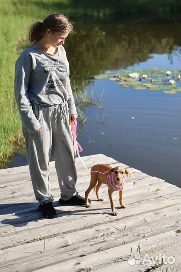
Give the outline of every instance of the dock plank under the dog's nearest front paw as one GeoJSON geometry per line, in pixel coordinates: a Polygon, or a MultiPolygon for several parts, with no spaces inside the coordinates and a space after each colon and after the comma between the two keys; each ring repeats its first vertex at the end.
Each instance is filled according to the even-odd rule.
{"type": "MultiPolygon", "coordinates": [[[[180,199],[180,193],[175,194],[174,197],[169,197],[167,195],[162,196],[161,198],[152,198],[150,201],[139,202],[139,209],[132,203],[130,206],[128,205],[128,209],[121,209],[117,217],[111,216],[110,203],[107,207],[97,208],[97,209],[85,209],[82,208],[79,210],[73,211],[70,210],[66,213],[61,213],[58,218],[53,221],[42,218],[41,221],[38,222],[28,222],[27,227],[21,227],[22,225],[26,225],[26,220],[24,219],[23,223],[16,224],[16,228],[14,226],[6,226],[6,228],[1,228],[1,249],[8,248],[12,246],[17,246],[21,244],[25,244],[27,242],[39,240],[39,239],[48,239],[50,237],[55,237],[60,235],[61,233],[73,232],[79,229],[91,228],[93,226],[97,226],[102,224],[102,222],[115,222],[118,220],[127,220],[129,217],[138,216],[141,214],[145,214],[147,212],[155,211],[157,214],[160,209],[166,207],[172,207],[178,203],[178,199],[180,199]],[[169,200],[168,200],[169,199],[169,200]],[[143,202],[143,203],[142,203],[143,202]],[[154,205],[153,205],[154,203],[154,205]],[[91,219],[91,221],[90,221],[91,219]],[[81,226],[80,226],[81,221],[81,226]],[[67,225],[67,222],[69,223],[67,225]],[[18,228],[18,227],[21,227],[18,228]],[[64,231],[66,230],[66,231],[64,231]],[[9,236],[7,237],[7,232],[9,236]],[[35,234],[35,235],[33,235],[35,234]]],[[[72,207],[74,208],[74,207],[72,207]]],[[[76,207],[78,208],[78,207],[76,207]]],[[[75,209],[76,209],[75,208],[75,209]]],[[[17,219],[15,219],[17,221],[17,219]]],[[[12,220],[13,221],[13,220],[12,220]]],[[[7,224],[10,224],[10,221],[7,221],[7,224]]],[[[14,224],[14,221],[13,221],[14,224]]]]}

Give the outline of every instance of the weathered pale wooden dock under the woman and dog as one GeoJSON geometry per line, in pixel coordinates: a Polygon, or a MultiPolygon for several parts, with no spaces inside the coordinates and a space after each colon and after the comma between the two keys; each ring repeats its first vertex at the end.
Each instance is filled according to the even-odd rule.
{"type": "MultiPolygon", "coordinates": [[[[124,193],[127,209],[119,209],[119,192],[115,192],[119,214],[111,215],[107,185],[100,190],[103,202],[97,201],[94,192],[89,195],[91,208],[59,206],[57,175],[54,162],[50,162],[51,190],[58,217],[46,219],[38,210],[28,166],[2,169],[0,271],[152,271],[148,268],[156,266],[149,258],[163,255],[167,264],[154,271],[181,271],[181,189],[103,154],[82,158],[88,168],[98,163],[129,168],[131,178],[124,193]],[[136,252],[140,255],[135,255],[136,252]],[[149,257],[143,263],[145,253],[149,257]]],[[[76,188],[84,196],[90,173],[79,158],[76,165],[76,188]]]]}

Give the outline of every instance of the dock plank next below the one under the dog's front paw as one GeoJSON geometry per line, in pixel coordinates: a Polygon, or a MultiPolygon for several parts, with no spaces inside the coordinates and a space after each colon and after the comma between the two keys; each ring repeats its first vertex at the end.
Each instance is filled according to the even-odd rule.
{"type": "MultiPolygon", "coordinates": [[[[52,252],[53,250],[64,246],[70,246],[67,250],[72,252],[74,252],[73,248],[77,249],[77,254],[79,254],[80,249],[78,249],[77,244],[81,244],[81,247],[83,247],[84,242],[94,242],[98,248],[101,246],[98,245],[98,243],[104,242],[104,248],[106,248],[107,246],[112,247],[124,243],[128,244],[143,236],[146,239],[153,234],[155,235],[160,232],[163,233],[168,230],[170,231],[171,229],[175,229],[176,226],[179,228],[180,220],[178,219],[178,215],[180,215],[180,210],[178,211],[178,208],[179,205],[174,206],[174,208],[169,207],[162,209],[157,216],[158,219],[155,217],[155,212],[152,212],[145,215],[138,215],[135,219],[128,218],[127,221],[119,220],[114,223],[103,223],[89,229],[57,235],[52,238],[50,237],[46,239],[46,241],[42,239],[36,242],[20,245],[18,246],[18,252],[17,247],[1,250],[0,261],[6,261],[8,265],[11,265],[10,260],[12,260],[12,264],[15,264],[16,259],[18,263],[20,262],[20,258],[37,258],[38,253],[42,254],[42,252],[52,252]],[[175,210],[175,213],[170,220],[169,214],[173,209],[175,210]],[[114,244],[110,244],[110,241],[114,241],[114,244]],[[108,245],[106,245],[105,242],[108,242],[108,245]],[[75,247],[71,247],[75,244],[75,247]]],[[[97,248],[93,249],[93,247],[89,248],[91,251],[96,249],[97,248]]]]}

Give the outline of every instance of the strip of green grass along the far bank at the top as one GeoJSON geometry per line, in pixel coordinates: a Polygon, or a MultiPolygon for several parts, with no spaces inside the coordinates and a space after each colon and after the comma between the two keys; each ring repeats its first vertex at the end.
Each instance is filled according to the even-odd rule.
{"type": "Polygon", "coordinates": [[[160,16],[164,19],[173,17],[180,18],[181,3],[179,0],[9,0],[1,1],[16,13],[16,15],[31,17],[32,14],[39,13],[41,17],[44,13],[57,11],[65,13],[68,17],[104,15],[128,15],[128,14],[149,14],[160,16]],[[9,5],[5,3],[9,3],[9,5]],[[26,8],[25,8],[26,7],[26,8]]]}

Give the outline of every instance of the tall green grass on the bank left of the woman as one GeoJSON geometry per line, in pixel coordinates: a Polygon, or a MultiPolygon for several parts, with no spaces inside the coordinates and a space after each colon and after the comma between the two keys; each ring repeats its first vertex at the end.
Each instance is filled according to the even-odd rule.
{"type": "Polygon", "coordinates": [[[19,56],[18,49],[27,38],[30,24],[47,16],[47,11],[37,10],[33,3],[28,4],[28,16],[25,3],[10,0],[0,2],[0,168],[4,167],[17,148],[24,146],[21,120],[14,98],[14,70],[19,56]]]}

